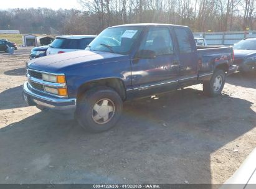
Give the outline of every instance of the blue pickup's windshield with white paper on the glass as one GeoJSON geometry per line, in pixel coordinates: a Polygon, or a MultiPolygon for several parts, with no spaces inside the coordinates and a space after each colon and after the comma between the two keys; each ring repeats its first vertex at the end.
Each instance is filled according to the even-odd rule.
{"type": "Polygon", "coordinates": [[[141,27],[113,27],[103,30],[87,50],[128,54],[141,33],[141,27]]]}

